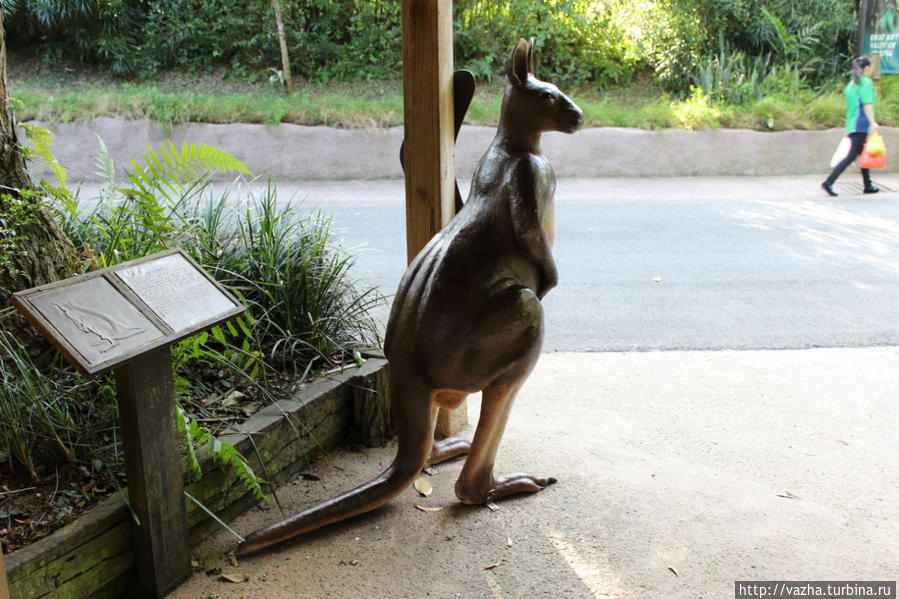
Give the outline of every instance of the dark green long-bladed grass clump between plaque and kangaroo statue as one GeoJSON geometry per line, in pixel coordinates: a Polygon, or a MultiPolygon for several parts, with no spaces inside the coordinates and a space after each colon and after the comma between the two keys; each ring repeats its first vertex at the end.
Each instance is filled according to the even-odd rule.
{"type": "Polygon", "coordinates": [[[227,192],[195,205],[197,259],[250,307],[254,338],[279,370],[378,343],[370,311],[384,298],[359,289],[353,257],[334,247],[330,218],[279,204],[272,181],[232,205],[227,192]]]}

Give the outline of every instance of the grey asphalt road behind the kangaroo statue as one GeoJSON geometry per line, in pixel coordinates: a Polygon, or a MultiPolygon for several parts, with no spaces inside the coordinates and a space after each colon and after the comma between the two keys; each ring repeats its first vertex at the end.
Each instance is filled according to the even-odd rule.
{"type": "MultiPolygon", "coordinates": [[[[863,196],[855,178],[834,199],[814,177],[561,180],[544,351],[899,345],[899,181],[863,196]]],[[[392,296],[401,182],[279,190],[333,213],[357,276],[392,296]]]]}

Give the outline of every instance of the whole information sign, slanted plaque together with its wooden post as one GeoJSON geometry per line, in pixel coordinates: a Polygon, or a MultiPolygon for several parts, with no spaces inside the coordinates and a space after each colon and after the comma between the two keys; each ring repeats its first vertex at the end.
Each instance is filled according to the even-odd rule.
{"type": "Polygon", "coordinates": [[[165,597],[191,572],[168,346],[243,305],[181,250],[20,291],[10,303],[82,374],[115,369],[137,577],[143,596],[165,597]]]}

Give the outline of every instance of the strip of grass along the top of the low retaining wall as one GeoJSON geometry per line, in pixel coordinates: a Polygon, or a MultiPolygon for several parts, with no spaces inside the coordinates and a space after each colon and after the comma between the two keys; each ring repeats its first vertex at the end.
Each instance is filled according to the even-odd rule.
{"type": "MultiPolygon", "coordinates": [[[[637,129],[750,128],[757,130],[827,129],[842,121],[843,82],[811,89],[790,66],[761,68],[760,59],[727,56],[708,59],[697,67],[695,89],[703,90],[707,110],[697,111],[696,99],[669,95],[646,77],[599,92],[590,87],[569,91],[584,109],[587,126],[637,129]],[[684,115],[692,115],[685,119],[684,115]],[[769,116],[765,115],[771,115],[769,116]],[[773,126],[772,126],[773,123],[773,126]]],[[[878,120],[899,125],[899,78],[883,79],[878,120]]],[[[403,122],[403,94],[398,82],[333,83],[303,88],[291,97],[274,89],[191,92],[166,86],[110,83],[78,91],[48,88],[35,80],[13,81],[13,95],[22,104],[21,120],[68,122],[111,116],[150,119],[164,125],[185,122],[321,125],[340,128],[394,127],[403,122]]],[[[246,87],[241,88],[246,89],[246,87]]],[[[495,126],[502,101],[502,82],[479,82],[468,110],[469,125],[495,126]]]]}

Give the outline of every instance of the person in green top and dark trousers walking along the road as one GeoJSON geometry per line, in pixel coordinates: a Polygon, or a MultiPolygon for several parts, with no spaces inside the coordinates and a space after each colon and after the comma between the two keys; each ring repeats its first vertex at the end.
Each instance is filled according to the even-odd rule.
{"type": "MultiPolygon", "coordinates": [[[[821,188],[828,195],[837,195],[837,192],[833,190],[833,184],[837,177],[861,155],[868,133],[880,128],[874,118],[876,92],[874,91],[874,81],[871,80],[873,71],[874,67],[867,56],[852,61],[852,81],[843,89],[843,93],[846,95],[846,133],[849,134],[852,145],[849,148],[849,154],[833,168],[830,176],[821,184],[821,188]]],[[[871,174],[866,168],[862,169],[862,180],[865,183],[865,193],[880,191],[871,184],[871,174]]]]}

